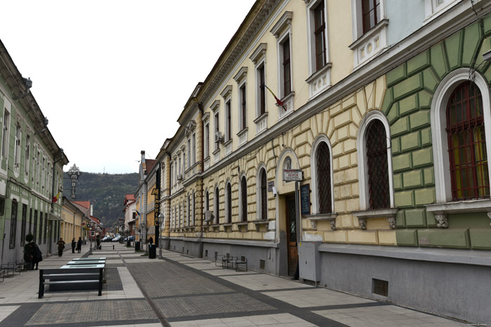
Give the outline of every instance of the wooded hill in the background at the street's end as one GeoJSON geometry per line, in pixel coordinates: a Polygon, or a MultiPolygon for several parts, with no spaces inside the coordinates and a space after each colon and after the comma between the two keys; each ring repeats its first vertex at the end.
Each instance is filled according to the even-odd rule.
{"type": "Polygon", "coordinates": [[[72,181],[63,174],[63,195],[69,200],[90,201],[93,215],[100,218],[105,227],[124,218],[124,196],[135,194],[138,174],[94,174],[82,172],[76,182],[75,199],[72,199],[72,181]]]}

